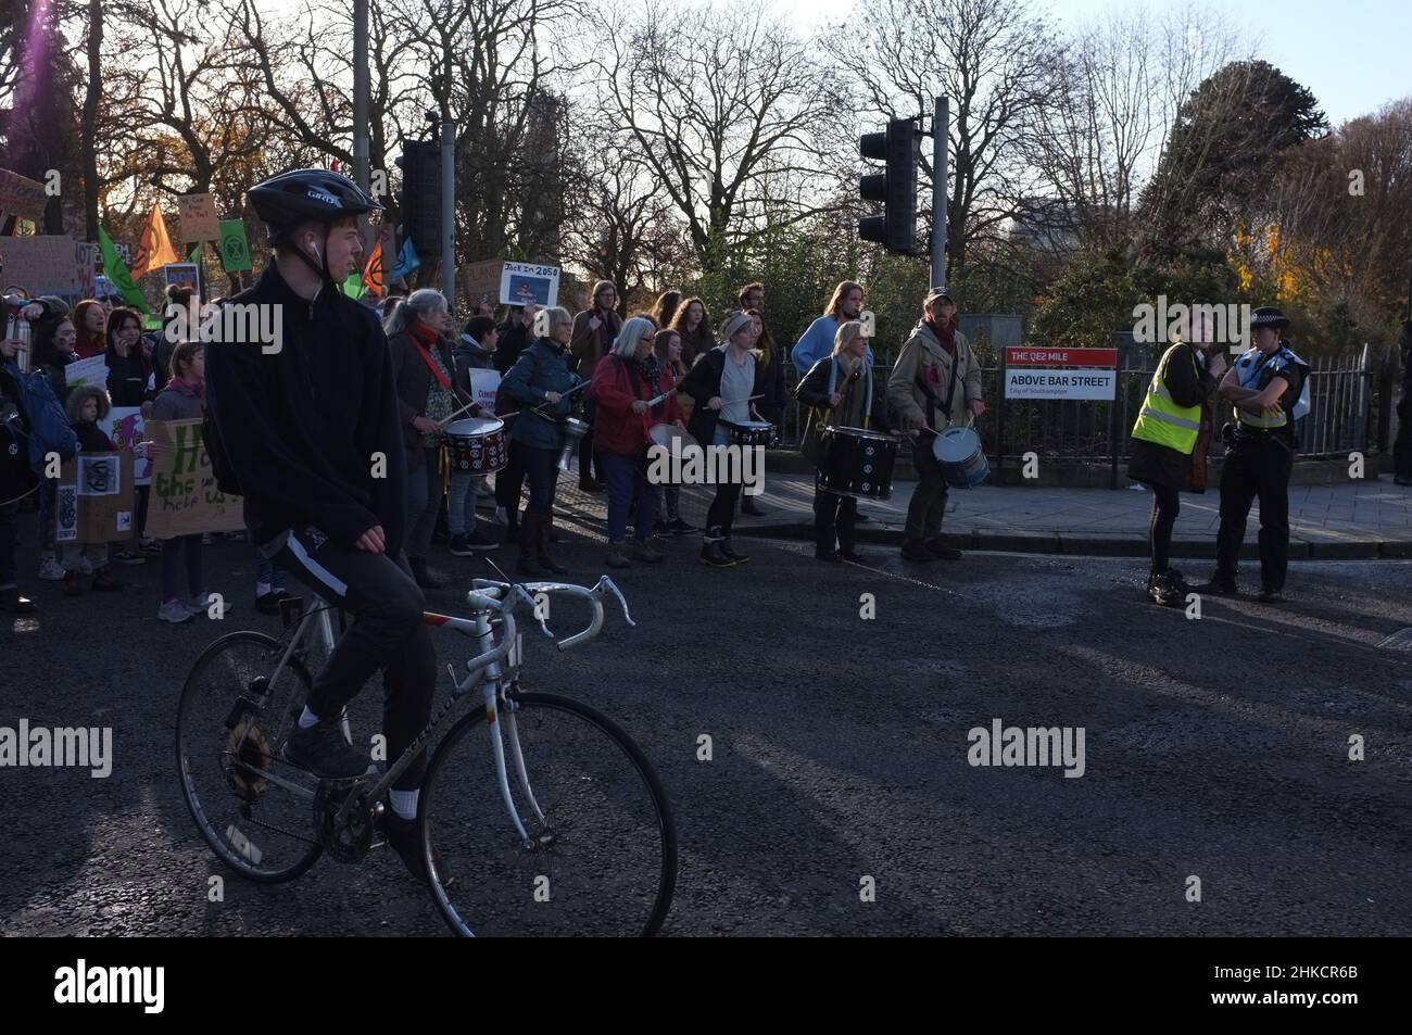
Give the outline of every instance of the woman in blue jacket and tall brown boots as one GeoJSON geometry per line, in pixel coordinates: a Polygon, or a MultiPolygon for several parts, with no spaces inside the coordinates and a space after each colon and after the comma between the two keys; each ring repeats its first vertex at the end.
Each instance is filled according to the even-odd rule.
{"type": "Polygon", "coordinates": [[[566,393],[580,380],[569,373],[568,363],[573,315],[562,306],[542,309],[535,330],[544,335],[520,353],[500,383],[501,391],[520,402],[510,438],[521,445],[530,477],[530,503],[520,524],[520,572],[542,575],[548,569],[563,575],[568,569],[549,556],[549,530],[563,450],[563,421],[573,408],[566,393]]]}

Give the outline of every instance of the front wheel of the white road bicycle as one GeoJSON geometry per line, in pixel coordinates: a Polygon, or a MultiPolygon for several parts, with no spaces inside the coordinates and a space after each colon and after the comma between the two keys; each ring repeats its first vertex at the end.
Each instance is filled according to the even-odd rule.
{"type": "Polygon", "coordinates": [[[462,719],[426,772],[422,850],[442,916],[465,936],[657,933],[676,885],[676,827],[651,762],[582,702],[508,696],[513,714],[490,727],[484,709],[462,719]],[[527,839],[496,779],[501,734],[527,839]]]}

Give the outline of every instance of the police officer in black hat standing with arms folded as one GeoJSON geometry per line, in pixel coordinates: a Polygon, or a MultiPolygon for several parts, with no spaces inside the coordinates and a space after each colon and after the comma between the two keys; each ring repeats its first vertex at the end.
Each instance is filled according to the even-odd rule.
{"type": "Polygon", "coordinates": [[[1236,360],[1219,390],[1220,397],[1236,407],[1236,426],[1221,470],[1216,573],[1197,586],[1203,593],[1228,596],[1240,592],[1237,558],[1245,539],[1250,504],[1260,497],[1260,599],[1262,603],[1284,599],[1295,421],[1309,412],[1309,364],[1284,340],[1281,332],[1288,325],[1274,306],[1255,309],[1251,318],[1254,346],[1236,360]]]}

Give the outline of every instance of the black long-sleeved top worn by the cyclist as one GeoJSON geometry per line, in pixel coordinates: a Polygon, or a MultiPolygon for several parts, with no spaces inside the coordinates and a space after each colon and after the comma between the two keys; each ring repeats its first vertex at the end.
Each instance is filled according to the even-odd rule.
{"type": "MultiPolygon", "coordinates": [[[[325,285],[311,302],[274,260],[227,305],[277,305],[280,350],[206,345],[206,405],[240,479],[257,545],[312,525],[352,549],[374,525],[395,558],[405,525],[402,428],[377,315],[325,285]],[[381,469],[384,477],[374,477],[381,469]]],[[[270,346],[273,347],[273,346],[270,346]]]]}

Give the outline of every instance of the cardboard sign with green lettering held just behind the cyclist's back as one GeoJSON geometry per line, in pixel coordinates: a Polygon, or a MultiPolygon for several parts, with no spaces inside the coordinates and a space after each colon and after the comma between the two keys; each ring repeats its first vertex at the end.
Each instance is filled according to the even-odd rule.
{"type": "Polygon", "coordinates": [[[171,539],[198,532],[234,532],[246,527],[244,501],[216,487],[201,438],[201,419],[148,421],[152,489],[144,535],[171,539]]]}

